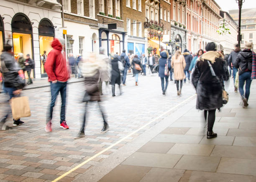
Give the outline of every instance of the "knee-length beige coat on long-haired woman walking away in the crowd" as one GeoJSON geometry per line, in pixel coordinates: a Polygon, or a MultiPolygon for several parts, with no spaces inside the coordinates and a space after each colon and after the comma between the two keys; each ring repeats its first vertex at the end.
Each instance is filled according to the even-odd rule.
{"type": "Polygon", "coordinates": [[[186,78],[186,75],[184,73],[186,62],[183,55],[180,55],[177,59],[175,59],[175,57],[173,56],[171,66],[173,68],[174,80],[183,80],[186,78]]]}

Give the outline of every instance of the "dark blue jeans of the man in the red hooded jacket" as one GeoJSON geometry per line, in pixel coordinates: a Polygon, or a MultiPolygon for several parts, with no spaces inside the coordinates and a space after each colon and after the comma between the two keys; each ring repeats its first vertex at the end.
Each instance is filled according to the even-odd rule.
{"type": "Polygon", "coordinates": [[[52,112],[55,105],[55,101],[57,96],[61,94],[61,113],[60,113],[60,123],[65,121],[66,115],[66,97],[67,97],[67,82],[51,82],[51,103],[49,105],[47,115],[46,115],[46,123],[51,121],[52,112]]]}

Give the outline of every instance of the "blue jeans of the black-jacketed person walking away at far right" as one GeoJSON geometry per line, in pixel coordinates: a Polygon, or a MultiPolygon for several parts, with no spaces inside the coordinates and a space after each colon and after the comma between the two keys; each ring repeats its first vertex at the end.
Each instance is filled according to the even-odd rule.
{"type": "Polygon", "coordinates": [[[249,95],[250,95],[250,87],[251,87],[251,72],[247,71],[242,73],[241,75],[239,75],[239,92],[241,94],[242,97],[246,97],[246,99],[248,100],[249,95]],[[243,85],[244,82],[246,82],[246,92],[244,95],[243,92],[243,85]]]}

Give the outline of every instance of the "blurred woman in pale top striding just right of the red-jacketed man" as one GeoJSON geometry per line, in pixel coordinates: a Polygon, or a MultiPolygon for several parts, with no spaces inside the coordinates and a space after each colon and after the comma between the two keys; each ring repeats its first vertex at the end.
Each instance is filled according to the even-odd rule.
{"type": "MultiPolygon", "coordinates": [[[[118,55],[114,55],[114,57],[118,57],[118,55]]],[[[96,54],[90,53],[89,59],[83,63],[82,66],[82,73],[84,75],[84,84],[85,84],[85,95],[83,98],[83,102],[85,102],[85,110],[84,110],[84,117],[82,122],[82,127],[75,138],[81,138],[84,137],[84,129],[86,126],[86,114],[87,114],[87,105],[88,102],[95,102],[97,101],[97,104],[100,108],[100,112],[103,118],[103,127],[101,132],[107,132],[109,130],[108,122],[106,115],[103,111],[103,107],[100,104],[100,92],[98,87],[98,81],[100,79],[100,72],[102,72],[102,60],[99,60],[96,56],[96,54]]],[[[104,68],[105,69],[105,68],[104,68]]]]}

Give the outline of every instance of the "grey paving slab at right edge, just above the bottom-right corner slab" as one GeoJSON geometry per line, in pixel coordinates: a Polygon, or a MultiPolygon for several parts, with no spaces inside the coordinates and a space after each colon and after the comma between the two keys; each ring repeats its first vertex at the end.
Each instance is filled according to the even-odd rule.
{"type": "Polygon", "coordinates": [[[256,159],[222,157],[217,172],[256,176],[256,159]]]}

